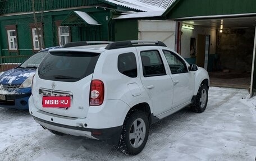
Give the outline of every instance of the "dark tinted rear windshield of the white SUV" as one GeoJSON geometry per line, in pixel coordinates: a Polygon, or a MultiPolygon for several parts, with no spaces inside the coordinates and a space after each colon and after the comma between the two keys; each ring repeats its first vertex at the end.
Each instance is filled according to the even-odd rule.
{"type": "Polygon", "coordinates": [[[75,82],[93,73],[99,53],[50,52],[40,63],[41,79],[75,82]]]}

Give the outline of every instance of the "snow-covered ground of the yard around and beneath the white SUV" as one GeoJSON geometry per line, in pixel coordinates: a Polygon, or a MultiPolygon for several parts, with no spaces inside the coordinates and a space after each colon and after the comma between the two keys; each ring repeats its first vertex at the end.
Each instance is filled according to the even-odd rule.
{"type": "Polygon", "coordinates": [[[56,136],[28,111],[0,108],[0,160],[253,160],[256,98],[247,90],[209,89],[204,113],[180,112],[153,125],[145,149],[122,154],[103,141],[56,136]]]}

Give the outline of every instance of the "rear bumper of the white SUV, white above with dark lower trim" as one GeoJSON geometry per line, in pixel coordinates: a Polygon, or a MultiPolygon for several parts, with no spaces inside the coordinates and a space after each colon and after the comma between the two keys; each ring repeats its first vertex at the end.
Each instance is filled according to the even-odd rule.
{"type": "Polygon", "coordinates": [[[76,118],[45,112],[35,107],[33,95],[29,99],[29,113],[41,126],[64,134],[106,140],[111,145],[118,144],[129,109],[120,100],[106,100],[102,106],[89,107],[85,118],[76,118]]]}

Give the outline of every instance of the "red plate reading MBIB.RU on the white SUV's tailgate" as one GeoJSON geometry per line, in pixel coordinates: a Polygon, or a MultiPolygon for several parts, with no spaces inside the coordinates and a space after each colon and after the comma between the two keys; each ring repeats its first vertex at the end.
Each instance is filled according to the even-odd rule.
{"type": "Polygon", "coordinates": [[[43,107],[68,108],[70,107],[70,96],[43,96],[43,107]]]}

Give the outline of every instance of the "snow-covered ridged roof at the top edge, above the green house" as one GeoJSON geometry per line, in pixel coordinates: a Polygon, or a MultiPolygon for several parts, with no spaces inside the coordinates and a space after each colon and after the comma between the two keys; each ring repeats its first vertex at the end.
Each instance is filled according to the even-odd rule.
{"type": "Polygon", "coordinates": [[[118,6],[131,8],[138,11],[167,10],[176,0],[105,0],[118,6]]]}

